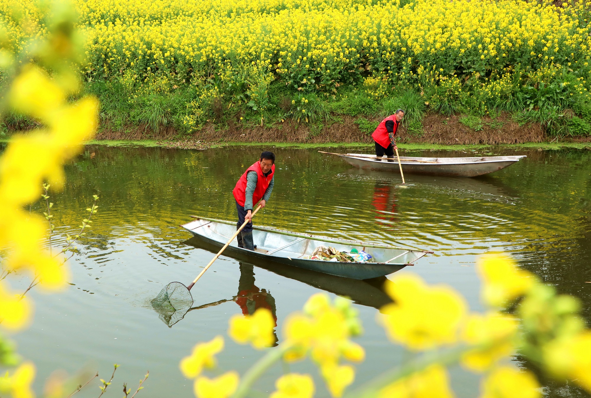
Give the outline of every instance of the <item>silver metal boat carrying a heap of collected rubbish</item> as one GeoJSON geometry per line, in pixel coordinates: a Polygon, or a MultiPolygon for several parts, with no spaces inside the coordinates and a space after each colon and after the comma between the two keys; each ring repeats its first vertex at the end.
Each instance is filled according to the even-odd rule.
{"type": "MultiPolygon", "coordinates": [[[[218,248],[225,245],[230,236],[236,232],[235,222],[209,219],[207,217],[191,217],[194,217],[196,220],[184,224],[181,227],[189,230],[195,237],[203,240],[203,242],[211,243],[218,248]]],[[[396,246],[380,245],[371,242],[306,235],[262,226],[254,227],[252,237],[256,245],[255,251],[239,248],[238,242],[235,239],[223,254],[238,259],[238,261],[252,263],[256,259],[264,259],[280,264],[310,269],[311,271],[337,275],[339,277],[364,280],[392,274],[392,272],[396,272],[407,265],[414,265],[413,262],[427,253],[433,253],[427,250],[398,248],[396,246]],[[331,246],[338,251],[344,252],[350,252],[353,248],[358,251],[365,251],[373,256],[374,262],[309,259],[314,249],[321,245],[331,246]]]]}

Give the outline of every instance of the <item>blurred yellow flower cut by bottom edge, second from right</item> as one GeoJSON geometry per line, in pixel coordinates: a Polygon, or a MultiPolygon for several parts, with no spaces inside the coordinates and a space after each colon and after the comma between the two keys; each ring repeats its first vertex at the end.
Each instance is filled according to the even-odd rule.
{"type": "Polygon", "coordinates": [[[411,374],[381,389],[378,398],[452,398],[446,369],[430,365],[423,371],[411,374]]]}

